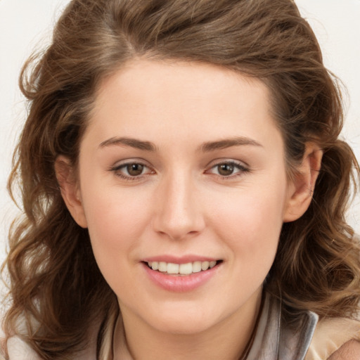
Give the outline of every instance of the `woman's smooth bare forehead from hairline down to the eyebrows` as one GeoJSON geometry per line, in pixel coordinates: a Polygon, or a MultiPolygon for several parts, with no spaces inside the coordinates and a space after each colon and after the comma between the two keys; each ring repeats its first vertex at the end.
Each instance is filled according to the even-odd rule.
{"type": "Polygon", "coordinates": [[[262,138],[276,124],[258,79],[206,63],[134,60],[101,83],[90,129],[99,142],[120,135],[208,141],[262,138]]]}

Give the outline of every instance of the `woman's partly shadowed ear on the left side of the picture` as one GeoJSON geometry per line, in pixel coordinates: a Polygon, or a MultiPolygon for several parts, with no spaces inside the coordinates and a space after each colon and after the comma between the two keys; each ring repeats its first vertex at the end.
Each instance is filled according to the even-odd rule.
{"type": "Polygon", "coordinates": [[[55,172],[66,207],[68,207],[77,224],[82,228],[86,228],[87,222],[82,206],[81,193],[75,176],[75,169],[70,164],[70,160],[63,155],[59,155],[55,161],[55,172]]]}

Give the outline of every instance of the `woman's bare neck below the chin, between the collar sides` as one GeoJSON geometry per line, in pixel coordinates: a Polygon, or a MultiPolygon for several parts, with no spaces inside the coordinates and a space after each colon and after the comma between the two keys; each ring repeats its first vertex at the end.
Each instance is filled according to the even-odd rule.
{"type": "Polygon", "coordinates": [[[177,334],[155,329],[122,311],[114,336],[114,360],[238,360],[252,340],[261,293],[239,311],[200,333],[177,334]]]}

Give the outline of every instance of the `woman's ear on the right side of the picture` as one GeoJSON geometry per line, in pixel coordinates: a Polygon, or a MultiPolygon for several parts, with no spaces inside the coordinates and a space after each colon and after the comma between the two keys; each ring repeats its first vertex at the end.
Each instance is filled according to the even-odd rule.
{"type": "Polygon", "coordinates": [[[288,183],[288,202],[285,207],[284,222],[295,221],[307,211],[314,192],[316,179],[321,169],[323,150],[314,143],[305,146],[302,163],[295,170],[288,183]]]}

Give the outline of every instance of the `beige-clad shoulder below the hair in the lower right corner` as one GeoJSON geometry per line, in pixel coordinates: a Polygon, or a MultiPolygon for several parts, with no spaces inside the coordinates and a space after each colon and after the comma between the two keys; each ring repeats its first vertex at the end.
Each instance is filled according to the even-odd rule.
{"type": "Polygon", "coordinates": [[[305,360],[323,359],[360,359],[360,321],[346,318],[319,321],[305,360]]]}

